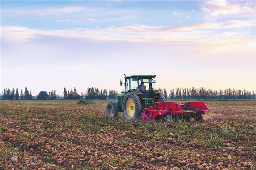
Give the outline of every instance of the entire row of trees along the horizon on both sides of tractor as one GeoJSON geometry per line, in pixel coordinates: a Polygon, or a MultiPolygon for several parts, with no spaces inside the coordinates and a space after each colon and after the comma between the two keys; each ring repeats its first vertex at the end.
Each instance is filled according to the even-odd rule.
{"type": "MultiPolygon", "coordinates": [[[[211,88],[176,88],[170,89],[169,96],[167,95],[167,90],[165,88],[159,89],[167,99],[256,99],[256,94],[254,91],[247,90],[234,90],[231,88],[225,90],[212,90],[211,88]]],[[[57,95],[56,90],[49,92],[40,91],[39,94],[34,97],[37,100],[55,100],[55,99],[117,99],[118,92],[117,90],[109,90],[88,87],[86,92],[78,94],[76,88],[74,87],[70,91],[64,87],[63,96],[57,95]]],[[[32,100],[33,96],[31,90],[28,90],[25,87],[24,94],[22,89],[14,90],[14,88],[5,88],[0,95],[2,100],[32,100]]]]}

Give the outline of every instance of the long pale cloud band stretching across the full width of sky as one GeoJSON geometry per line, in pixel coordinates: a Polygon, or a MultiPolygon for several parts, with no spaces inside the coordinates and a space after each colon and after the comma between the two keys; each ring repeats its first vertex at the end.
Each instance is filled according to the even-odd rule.
{"type": "MultiPolygon", "coordinates": [[[[228,20],[216,23],[197,23],[177,27],[127,25],[97,29],[37,30],[25,27],[1,27],[4,42],[37,41],[49,36],[91,40],[130,42],[192,43],[207,46],[212,51],[255,53],[255,35],[245,35],[240,28],[256,26],[256,20],[228,20]],[[236,28],[238,32],[236,32],[236,28]],[[230,32],[229,29],[232,29],[230,32]],[[215,30],[215,31],[214,31],[215,30]],[[240,31],[240,32],[239,32],[240,31]],[[217,32],[217,33],[214,33],[217,32]]],[[[243,29],[244,30],[244,29],[243,29]]]]}

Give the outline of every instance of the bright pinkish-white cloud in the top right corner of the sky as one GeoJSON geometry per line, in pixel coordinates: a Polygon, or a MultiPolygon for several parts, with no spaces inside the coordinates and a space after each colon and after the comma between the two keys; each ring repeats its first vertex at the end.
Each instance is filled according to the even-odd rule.
{"type": "Polygon", "coordinates": [[[255,14],[256,3],[255,1],[234,1],[231,3],[227,0],[214,0],[207,1],[203,6],[203,11],[212,16],[231,15],[231,14],[255,14]]]}

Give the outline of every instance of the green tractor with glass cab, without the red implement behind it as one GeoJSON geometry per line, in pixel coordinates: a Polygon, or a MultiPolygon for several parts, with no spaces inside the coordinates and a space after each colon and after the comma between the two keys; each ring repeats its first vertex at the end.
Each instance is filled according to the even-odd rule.
{"type": "Polygon", "coordinates": [[[124,90],[118,93],[118,102],[108,102],[106,114],[109,118],[117,118],[123,112],[125,119],[139,120],[143,108],[151,107],[154,102],[166,102],[165,96],[155,88],[156,75],[124,75],[120,86],[124,90]]]}

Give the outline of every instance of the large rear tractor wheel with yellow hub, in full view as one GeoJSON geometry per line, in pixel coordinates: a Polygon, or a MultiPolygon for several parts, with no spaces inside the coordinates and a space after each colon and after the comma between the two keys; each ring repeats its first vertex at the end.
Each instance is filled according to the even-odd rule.
{"type": "Polygon", "coordinates": [[[125,119],[139,120],[142,115],[140,98],[134,92],[128,92],[123,100],[123,114],[125,119]]]}

